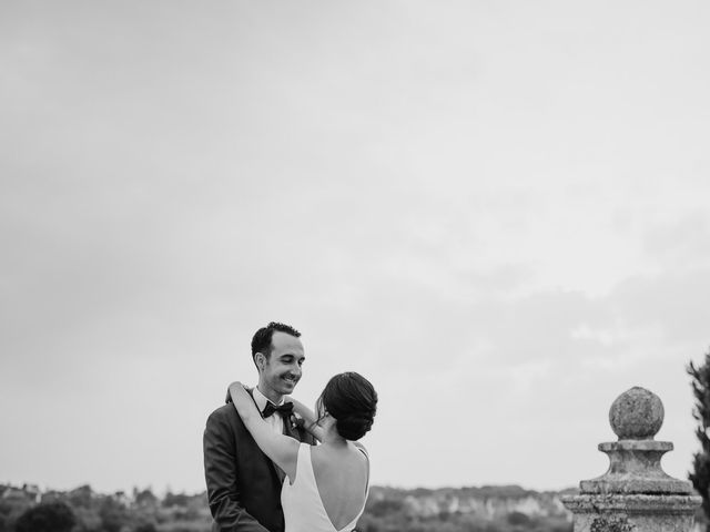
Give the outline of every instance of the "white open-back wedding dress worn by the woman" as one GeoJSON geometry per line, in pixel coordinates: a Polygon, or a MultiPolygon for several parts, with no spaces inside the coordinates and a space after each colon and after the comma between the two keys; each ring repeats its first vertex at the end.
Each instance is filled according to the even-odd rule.
{"type": "MultiPolygon", "coordinates": [[[[318,493],[318,485],[315,482],[313,463],[311,462],[311,449],[308,443],[301,443],[298,447],[298,458],[296,459],[296,480],[292,484],[288,477],[284,479],[281,489],[281,505],[284,510],[284,532],[351,532],[357,524],[357,520],[365,510],[365,503],[358,514],[342,529],[333,526],[328,518],[323,500],[318,493]]],[[[367,451],[361,448],[367,457],[367,451]]],[[[368,461],[369,461],[369,457],[368,461]]],[[[368,475],[369,477],[369,475],[368,475]]],[[[369,480],[365,488],[365,502],[369,493],[369,480]]]]}

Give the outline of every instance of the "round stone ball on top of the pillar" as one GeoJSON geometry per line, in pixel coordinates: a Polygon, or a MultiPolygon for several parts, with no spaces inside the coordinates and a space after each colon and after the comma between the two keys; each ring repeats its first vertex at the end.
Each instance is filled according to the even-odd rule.
{"type": "Polygon", "coordinates": [[[652,440],[663,424],[663,403],[652,391],[635,386],[609,409],[609,423],[619,440],[652,440]]]}

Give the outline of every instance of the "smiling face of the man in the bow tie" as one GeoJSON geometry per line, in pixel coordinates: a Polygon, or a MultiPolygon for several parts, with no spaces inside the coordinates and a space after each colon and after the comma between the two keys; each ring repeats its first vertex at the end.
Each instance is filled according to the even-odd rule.
{"type": "Polygon", "coordinates": [[[303,345],[295,336],[280,330],[271,339],[271,357],[257,355],[260,366],[258,389],[268,399],[278,402],[283,396],[293,392],[301,380],[301,367],[305,360],[303,345]]]}

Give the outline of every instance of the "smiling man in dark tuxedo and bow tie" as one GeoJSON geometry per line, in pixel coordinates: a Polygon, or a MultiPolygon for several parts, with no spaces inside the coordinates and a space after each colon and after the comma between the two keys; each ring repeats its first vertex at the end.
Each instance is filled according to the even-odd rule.
{"type": "MultiPolygon", "coordinates": [[[[252,358],[258,385],[252,397],[275,431],[311,444],[315,440],[295,423],[292,403],[283,397],[293,392],[305,360],[301,332],[272,321],[252,338],[252,358]]],[[[236,409],[217,408],[204,430],[204,474],[212,512],[213,532],[283,532],[281,485],[284,478],[256,446],[236,409]]]]}

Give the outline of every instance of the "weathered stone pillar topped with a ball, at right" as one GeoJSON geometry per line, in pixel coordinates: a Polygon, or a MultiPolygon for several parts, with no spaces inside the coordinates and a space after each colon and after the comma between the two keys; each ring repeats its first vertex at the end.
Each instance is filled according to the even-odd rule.
{"type": "Polygon", "coordinates": [[[663,403],[645,388],[621,393],[609,410],[619,441],[599,443],[609,470],[582,480],[579,495],[562,497],[574,514],[574,532],[688,532],[700,505],[692,484],[661,469],[673,449],[653,437],[663,423],[663,403]]]}

